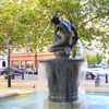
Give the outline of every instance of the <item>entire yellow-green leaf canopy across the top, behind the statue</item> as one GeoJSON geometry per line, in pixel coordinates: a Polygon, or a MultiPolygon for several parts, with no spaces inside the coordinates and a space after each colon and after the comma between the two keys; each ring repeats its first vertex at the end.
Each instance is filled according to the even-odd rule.
{"type": "Polygon", "coordinates": [[[102,48],[109,47],[108,0],[1,0],[0,49],[5,49],[9,39],[14,47],[22,45],[32,51],[51,45],[52,25],[45,29],[55,13],[71,22],[81,39],[96,39],[102,48]]]}

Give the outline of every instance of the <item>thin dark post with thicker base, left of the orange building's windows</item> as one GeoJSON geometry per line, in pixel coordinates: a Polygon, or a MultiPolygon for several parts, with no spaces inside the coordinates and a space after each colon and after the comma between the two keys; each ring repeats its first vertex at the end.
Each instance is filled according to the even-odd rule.
{"type": "Polygon", "coordinates": [[[9,40],[9,43],[8,43],[8,87],[11,87],[10,50],[11,50],[11,40],[9,40]]]}

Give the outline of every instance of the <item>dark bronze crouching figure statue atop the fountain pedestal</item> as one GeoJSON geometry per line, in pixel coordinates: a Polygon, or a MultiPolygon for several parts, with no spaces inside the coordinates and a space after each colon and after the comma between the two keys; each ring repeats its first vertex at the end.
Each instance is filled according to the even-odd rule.
{"type": "Polygon", "coordinates": [[[69,22],[61,21],[58,14],[51,17],[51,23],[55,24],[53,38],[56,43],[49,48],[49,51],[55,52],[59,58],[69,57],[78,39],[76,29],[69,22]]]}

